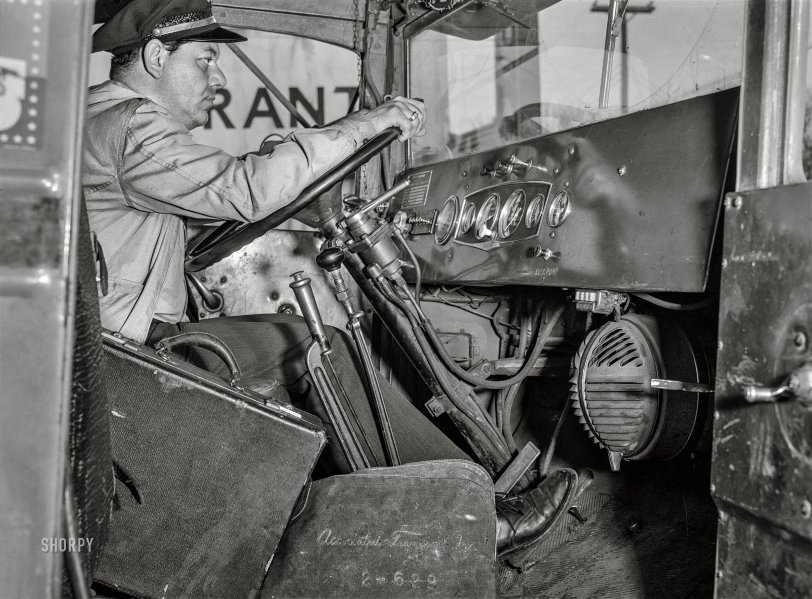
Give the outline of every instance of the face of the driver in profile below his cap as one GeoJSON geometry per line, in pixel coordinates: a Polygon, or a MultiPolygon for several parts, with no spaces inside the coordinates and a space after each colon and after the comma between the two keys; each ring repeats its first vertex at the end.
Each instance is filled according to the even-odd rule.
{"type": "Polygon", "coordinates": [[[187,42],[165,58],[158,86],[162,104],[189,129],[205,125],[214,94],[226,86],[213,42],[187,42]]]}

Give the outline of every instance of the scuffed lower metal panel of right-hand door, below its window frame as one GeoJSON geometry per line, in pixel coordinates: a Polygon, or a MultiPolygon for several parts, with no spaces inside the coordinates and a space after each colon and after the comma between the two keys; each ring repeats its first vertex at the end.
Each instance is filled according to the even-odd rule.
{"type": "Polygon", "coordinates": [[[748,404],[812,359],[812,184],[726,200],[711,490],[719,597],[812,596],[812,410],[748,404]]]}

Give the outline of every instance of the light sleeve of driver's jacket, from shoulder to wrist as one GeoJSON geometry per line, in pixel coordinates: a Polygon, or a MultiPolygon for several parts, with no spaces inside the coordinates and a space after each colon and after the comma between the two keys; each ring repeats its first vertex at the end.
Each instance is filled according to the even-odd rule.
{"type": "Polygon", "coordinates": [[[236,158],[196,143],[145,102],[127,129],[119,176],[127,204],[192,218],[255,221],[290,203],[375,131],[360,115],[291,133],[268,156],[236,158]]]}

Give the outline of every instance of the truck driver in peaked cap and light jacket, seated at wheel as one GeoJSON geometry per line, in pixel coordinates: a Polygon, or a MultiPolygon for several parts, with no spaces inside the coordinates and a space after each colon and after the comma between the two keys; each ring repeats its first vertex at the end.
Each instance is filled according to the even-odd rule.
{"type": "MultiPolygon", "coordinates": [[[[307,382],[304,351],[310,333],[301,318],[263,314],[186,322],[184,255],[187,219],[251,222],[294,200],[319,175],[366,139],[389,127],[401,141],[423,133],[423,103],[394,98],[318,129],[290,134],[269,156],[235,158],[196,143],[190,130],[208,120],[215,93],[226,85],[218,43],[244,41],[219,26],[206,0],[134,0],[93,36],[93,51],[113,54],[110,80],[90,90],[83,188],[90,228],[103,248],[106,293],[102,325],[154,344],[186,331],[214,334],[246,375],[279,380],[297,407],[327,418],[307,382]]],[[[361,426],[375,431],[356,356],[331,329],[334,365],[361,426]]],[[[187,359],[220,373],[207,352],[187,359]]],[[[411,403],[381,381],[403,462],[467,456],[411,403]]],[[[328,437],[330,436],[328,424],[328,437]]],[[[371,441],[376,434],[367,435],[371,441]]],[[[331,443],[334,446],[335,443],[331,443]]],[[[370,461],[383,464],[380,444],[370,461]]],[[[328,469],[347,471],[328,447],[328,469]]],[[[501,552],[532,544],[569,501],[572,470],[560,470],[508,502],[498,518],[501,552]]],[[[501,503],[501,502],[500,502],[501,503]]]]}

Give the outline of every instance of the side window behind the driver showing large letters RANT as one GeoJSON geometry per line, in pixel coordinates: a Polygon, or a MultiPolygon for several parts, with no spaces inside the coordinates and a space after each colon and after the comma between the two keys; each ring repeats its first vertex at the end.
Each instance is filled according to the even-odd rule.
{"type": "MultiPolygon", "coordinates": [[[[240,33],[248,38],[240,49],[311,125],[347,114],[358,87],[355,53],[302,37],[252,30],[240,33]]],[[[218,92],[209,122],[192,132],[195,139],[240,155],[258,150],[266,137],[280,138],[302,128],[224,44],[220,44],[218,64],[228,85],[218,92]]],[[[91,84],[105,81],[109,70],[110,55],[94,54],[91,84]]]]}

